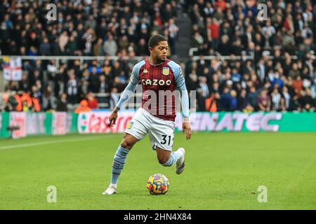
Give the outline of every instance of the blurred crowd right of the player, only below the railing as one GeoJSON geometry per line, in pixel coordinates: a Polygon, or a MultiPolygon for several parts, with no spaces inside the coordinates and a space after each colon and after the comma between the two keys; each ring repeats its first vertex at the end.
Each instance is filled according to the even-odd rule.
{"type": "Polygon", "coordinates": [[[186,83],[197,90],[199,111],[315,111],[315,60],[309,62],[310,68],[289,55],[265,56],[256,65],[201,56],[185,65],[186,83]]]}

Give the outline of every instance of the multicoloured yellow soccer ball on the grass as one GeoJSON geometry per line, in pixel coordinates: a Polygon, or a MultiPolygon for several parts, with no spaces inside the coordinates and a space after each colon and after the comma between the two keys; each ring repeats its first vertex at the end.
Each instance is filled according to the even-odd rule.
{"type": "Polygon", "coordinates": [[[152,174],[147,181],[147,188],[152,195],[164,195],[169,189],[169,179],[164,174],[152,174]]]}

